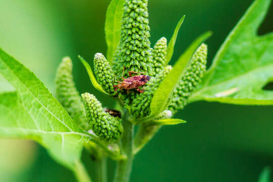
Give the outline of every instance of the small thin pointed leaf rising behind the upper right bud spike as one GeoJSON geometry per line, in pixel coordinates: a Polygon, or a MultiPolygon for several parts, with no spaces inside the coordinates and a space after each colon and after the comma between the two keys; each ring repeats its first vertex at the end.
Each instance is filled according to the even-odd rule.
{"type": "Polygon", "coordinates": [[[170,62],[171,57],[173,55],[173,49],[174,49],[176,37],[177,37],[178,31],[179,31],[182,23],[184,22],[184,19],[185,19],[185,15],[179,20],[178,24],[176,25],[173,35],[172,35],[170,42],[168,44],[166,62],[165,62],[166,65],[170,62]]]}

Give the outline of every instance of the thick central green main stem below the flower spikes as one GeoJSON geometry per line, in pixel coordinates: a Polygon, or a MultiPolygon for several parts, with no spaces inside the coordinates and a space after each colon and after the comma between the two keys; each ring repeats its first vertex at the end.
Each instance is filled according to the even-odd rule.
{"type": "Polygon", "coordinates": [[[133,127],[134,125],[126,119],[123,120],[124,134],[121,140],[123,152],[127,158],[119,160],[116,166],[114,182],[128,182],[130,178],[133,161],[133,127]]]}

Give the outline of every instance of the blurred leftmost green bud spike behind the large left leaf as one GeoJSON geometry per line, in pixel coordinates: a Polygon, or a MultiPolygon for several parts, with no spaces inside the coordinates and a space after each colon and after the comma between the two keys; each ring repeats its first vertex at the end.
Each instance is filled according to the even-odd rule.
{"type": "Polygon", "coordinates": [[[58,67],[55,79],[57,99],[78,126],[88,129],[84,106],[73,81],[72,66],[71,59],[65,57],[58,67]]]}

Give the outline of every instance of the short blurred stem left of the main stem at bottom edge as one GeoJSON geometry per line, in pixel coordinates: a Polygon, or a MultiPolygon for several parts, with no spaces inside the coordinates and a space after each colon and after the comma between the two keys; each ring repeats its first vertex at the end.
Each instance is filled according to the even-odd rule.
{"type": "Polygon", "coordinates": [[[107,158],[97,159],[97,182],[107,182],[107,158]]]}

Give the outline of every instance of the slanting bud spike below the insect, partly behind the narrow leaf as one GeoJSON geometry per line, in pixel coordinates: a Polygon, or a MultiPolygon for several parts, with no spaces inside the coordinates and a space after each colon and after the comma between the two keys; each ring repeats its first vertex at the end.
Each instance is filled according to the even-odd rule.
{"type": "Polygon", "coordinates": [[[154,93],[160,82],[165,78],[165,76],[171,71],[172,67],[170,65],[166,66],[164,70],[157,76],[152,77],[150,81],[146,84],[145,92],[138,95],[132,103],[131,113],[136,117],[145,117],[150,114],[150,104],[152,102],[154,93]]]}

